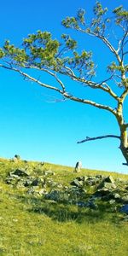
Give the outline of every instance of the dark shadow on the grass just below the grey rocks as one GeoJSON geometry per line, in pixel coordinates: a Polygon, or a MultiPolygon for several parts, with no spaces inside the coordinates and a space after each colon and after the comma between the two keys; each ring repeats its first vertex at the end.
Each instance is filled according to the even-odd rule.
{"type": "Polygon", "coordinates": [[[20,201],[26,203],[26,211],[43,214],[58,222],[75,221],[77,223],[96,223],[103,219],[117,223],[117,213],[107,203],[99,202],[97,209],[78,207],[66,202],[46,201],[34,196],[18,196],[20,201]]]}

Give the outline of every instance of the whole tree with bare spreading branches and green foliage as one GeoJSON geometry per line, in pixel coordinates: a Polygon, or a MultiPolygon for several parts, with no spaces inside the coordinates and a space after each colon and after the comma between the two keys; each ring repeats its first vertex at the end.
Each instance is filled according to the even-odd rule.
{"type": "MultiPolygon", "coordinates": [[[[95,108],[108,111],[113,114],[119,125],[119,136],[108,134],[100,137],[86,137],[79,143],[107,137],[118,138],[119,148],[125,157],[128,166],[128,123],[124,118],[124,102],[128,96],[128,65],[126,65],[126,55],[128,51],[128,11],[119,6],[113,9],[112,17],[108,15],[108,9],[103,9],[102,4],[96,2],[93,9],[94,17],[90,24],[85,21],[84,9],[79,9],[75,17],[67,17],[62,20],[62,25],[66,28],[82,32],[90,37],[98,38],[113,55],[113,62],[109,63],[107,77],[96,78],[96,65],[92,60],[91,51],[83,50],[79,53],[77,41],[67,34],[61,35],[58,41],[51,37],[50,32],[38,31],[28,35],[23,40],[21,48],[15,47],[6,41],[0,49],[0,67],[19,73],[23,79],[27,79],[43,86],[49,90],[55,90],[61,94],[63,100],[70,99],[74,102],[89,104],[95,108]],[[115,34],[108,34],[110,24],[115,29],[115,34]],[[55,79],[54,84],[45,84],[41,79],[37,79],[29,73],[29,70],[47,73],[55,79]],[[75,96],[73,92],[68,92],[69,87],[64,84],[63,77],[72,79],[74,84],[78,82],[84,88],[90,87],[94,91],[100,90],[106,93],[114,101],[114,108],[89,100],[87,97],[75,96]],[[117,90],[118,89],[118,90],[117,90]],[[118,91],[118,93],[117,93],[118,91]]],[[[36,73],[35,73],[36,74],[36,73]]]]}

